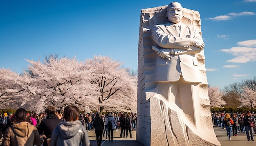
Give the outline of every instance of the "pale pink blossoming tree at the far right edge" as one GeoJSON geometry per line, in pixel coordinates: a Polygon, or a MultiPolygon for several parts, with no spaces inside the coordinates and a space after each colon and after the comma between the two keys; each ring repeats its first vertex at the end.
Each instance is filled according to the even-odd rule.
{"type": "Polygon", "coordinates": [[[256,107],[256,91],[248,87],[243,87],[243,91],[242,97],[238,100],[241,102],[241,106],[250,107],[252,110],[256,107]]]}

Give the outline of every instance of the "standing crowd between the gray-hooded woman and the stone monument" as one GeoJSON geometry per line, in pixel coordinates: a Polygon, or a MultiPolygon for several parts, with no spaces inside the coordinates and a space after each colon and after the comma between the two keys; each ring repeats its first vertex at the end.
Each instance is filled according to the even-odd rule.
{"type": "Polygon", "coordinates": [[[96,140],[100,146],[102,137],[105,137],[105,134],[106,140],[108,139],[109,142],[113,142],[113,131],[118,131],[118,129],[121,129],[120,138],[128,138],[128,132],[130,138],[132,138],[131,131],[136,130],[137,115],[136,113],[120,113],[119,115],[114,113],[103,115],[99,115],[99,113],[96,113],[96,115],[94,113],[88,113],[81,116],[81,122],[85,123],[88,132],[90,132],[91,129],[95,130],[96,140]]]}

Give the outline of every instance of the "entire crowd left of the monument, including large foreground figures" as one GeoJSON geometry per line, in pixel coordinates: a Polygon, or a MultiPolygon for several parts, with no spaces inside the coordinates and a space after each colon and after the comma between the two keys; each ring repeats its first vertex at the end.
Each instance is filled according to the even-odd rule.
{"type": "Polygon", "coordinates": [[[88,132],[94,129],[98,146],[102,136],[113,142],[113,131],[120,131],[120,137],[132,138],[136,130],[136,113],[103,114],[79,113],[79,109],[70,105],[62,114],[54,106],[45,108],[44,113],[28,113],[19,108],[16,113],[0,115],[0,138],[2,146],[43,145],[43,146],[90,146],[88,132]]]}

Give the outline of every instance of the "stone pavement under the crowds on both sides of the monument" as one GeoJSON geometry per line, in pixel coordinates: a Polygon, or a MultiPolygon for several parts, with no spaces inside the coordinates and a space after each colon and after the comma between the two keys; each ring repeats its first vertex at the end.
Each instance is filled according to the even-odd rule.
{"type": "MultiPolygon", "coordinates": [[[[238,136],[233,136],[233,133],[231,133],[231,140],[229,141],[227,138],[227,132],[226,129],[222,129],[221,127],[213,127],[214,132],[217,136],[217,139],[220,141],[220,144],[222,146],[256,146],[256,134],[254,134],[254,142],[247,141],[246,134],[238,133],[238,136]]],[[[108,142],[108,139],[106,137],[102,137],[103,140],[101,142],[101,146],[143,146],[139,142],[136,141],[136,131],[132,131],[132,137],[129,138],[120,138],[120,130],[114,131],[114,139],[113,142],[108,142]]],[[[94,130],[91,130],[90,133],[88,133],[90,142],[92,146],[97,146],[96,142],[96,136],[94,130]]],[[[129,135],[129,133],[128,133],[129,135]]],[[[0,144],[2,143],[2,139],[0,139],[0,144]]]]}

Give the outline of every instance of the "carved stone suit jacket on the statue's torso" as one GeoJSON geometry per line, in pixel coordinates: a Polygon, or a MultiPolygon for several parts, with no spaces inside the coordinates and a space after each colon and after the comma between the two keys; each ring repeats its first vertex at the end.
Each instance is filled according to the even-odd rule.
{"type": "Polygon", "coordinates": [[[159,49],[174,49],[175,55],[168,60],[158,56],[155,64],[154,81],[177,82],[182,77],[187,82],[202,82],[196,53],[200,48],[191,46],[192,38],[202,41],[197,28],[181,24],[180,37],[171,23],[155,25],[151,29],[151,36],[159,49]]]}

